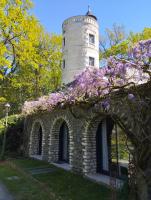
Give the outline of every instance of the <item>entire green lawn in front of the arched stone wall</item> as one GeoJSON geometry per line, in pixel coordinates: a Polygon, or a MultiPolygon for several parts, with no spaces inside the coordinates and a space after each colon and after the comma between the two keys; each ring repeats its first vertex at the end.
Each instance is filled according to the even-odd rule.
{"type": "Polygon", "coordinates": [[[16,200],[111,199],[111,191],[107,187],[93,183],[80,175],[56,168],[46,162],[30,159],[16,159],[12,162],[21,170],[12,168],[7,163],[0,164],[0,180],[16,197],[16,200]],[[47,174],[28,175],[29,168],[34,167],[49,167],[54,171],[47,174]],[[18,176],[19,179],[8,180],[7,177],[10,176],[18,176]]]}

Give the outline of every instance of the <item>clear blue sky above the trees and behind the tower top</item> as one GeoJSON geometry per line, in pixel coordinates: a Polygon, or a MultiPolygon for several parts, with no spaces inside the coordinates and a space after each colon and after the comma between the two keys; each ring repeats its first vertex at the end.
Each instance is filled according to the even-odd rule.
{"type": "Polygon", "coordinates": [[[97,16],[100,32],[116,23],[129,31],[140,32],[151,27],[151,0],[34,0],[33,14],[48,32],[61,33],[62,22],[83,15],[88,5],[97,16]]]}

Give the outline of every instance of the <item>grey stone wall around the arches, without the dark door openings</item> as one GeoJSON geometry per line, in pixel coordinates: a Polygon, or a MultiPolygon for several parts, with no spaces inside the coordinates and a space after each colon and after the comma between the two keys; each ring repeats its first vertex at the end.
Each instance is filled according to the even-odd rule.
{"type": "MultiPolygon", "coordinates": [[[[78,112],[78,108],[77,108],[78,112]]],[[[84,111],[83,117],[75,117],[68,109],[27,117],[25,121],[26,155],[36,153],[38,127],[42,127],[42,159],[58,161],[59,130],[63,122],[69,129],[69,164],[73,171],[83,174],[96,173],[96,131],[104,115],[96,116],[84,111]],[[88,119],[86,117],[88,116],[88,119]]]]}

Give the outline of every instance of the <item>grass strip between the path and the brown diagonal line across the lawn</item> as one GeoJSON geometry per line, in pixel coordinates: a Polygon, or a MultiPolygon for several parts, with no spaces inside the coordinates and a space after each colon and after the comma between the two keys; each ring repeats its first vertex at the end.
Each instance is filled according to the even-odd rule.
{"type": "MultiPolygon", "coordinates": [[[[43,190],[42,186],[30,176],[13,169],[7,163],[0,164],[0,180],[6,185],[16,200],[55,200],[53,193],[43,190]],[[8,180],[17,176],[18,180],[8,180]]],[[[50,191],[51,192],[51,191],[50,191]]]]}

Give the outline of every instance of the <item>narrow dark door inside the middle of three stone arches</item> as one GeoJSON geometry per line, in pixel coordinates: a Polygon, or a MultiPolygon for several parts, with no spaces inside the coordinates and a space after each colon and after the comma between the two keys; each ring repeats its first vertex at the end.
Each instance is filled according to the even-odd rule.
{"type": "Polygon", "coordinates": [[[65,122],[59,131],[59,161],[69,163],[69,130],[65,122]]]}

